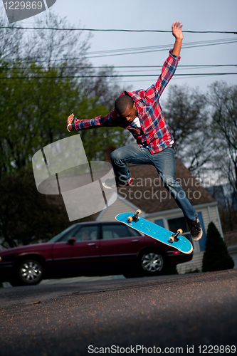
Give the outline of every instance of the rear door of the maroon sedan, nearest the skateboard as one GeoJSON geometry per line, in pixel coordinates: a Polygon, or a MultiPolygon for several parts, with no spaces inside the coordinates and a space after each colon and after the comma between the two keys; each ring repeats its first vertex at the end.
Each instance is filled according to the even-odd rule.
{"type": "Polygon", "coordinates": [[[107,268],[122,268],[137,258],[142,234],[125,224],[102,224],[101,263],[107,268]]]}

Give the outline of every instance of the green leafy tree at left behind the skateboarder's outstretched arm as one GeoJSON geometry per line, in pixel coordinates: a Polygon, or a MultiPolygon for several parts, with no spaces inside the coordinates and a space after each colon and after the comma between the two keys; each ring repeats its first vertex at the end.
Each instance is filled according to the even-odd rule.
{"type": "MultiPolygon", "coordinates": [[[[22,63],[0,74],[0,153],[1,174],[31,168],[35,152],[56,140],[68,137],[66,117],[106,115],[109,109],[98,98],[85,97],[80,85],[61,78],[56,69],[42,69],[22,63]]],[[[74,135],[78,135],[75,132],[74,135]]],[[[127,138],[119,127],[80,132],[88,159],[104,159],[107,146],[120,146],[127,138]]]]}

